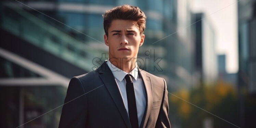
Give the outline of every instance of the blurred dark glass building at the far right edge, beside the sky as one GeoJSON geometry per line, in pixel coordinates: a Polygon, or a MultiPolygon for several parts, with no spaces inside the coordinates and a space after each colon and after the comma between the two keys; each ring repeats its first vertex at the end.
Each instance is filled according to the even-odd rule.
{"type": "Polygon", "coordinates": [[[239,4],[239,86],[256,93],[256,2],[239,4]],[[250,3],[250,4],[248,4],[250,3]],[[252,5],[252,6],[249,6],[252,5]],[[251,9],[252,15],[245,15],[251,9]]]}

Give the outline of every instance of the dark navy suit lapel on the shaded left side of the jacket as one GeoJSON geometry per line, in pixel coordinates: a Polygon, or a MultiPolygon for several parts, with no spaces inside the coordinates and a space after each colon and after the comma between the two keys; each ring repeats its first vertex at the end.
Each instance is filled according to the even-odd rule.
{"type": "Polygon", "coordinates": [[[131,128],[130,120],[125,109],[123,99],[121,97],[120,91],[117,87],[114,75],[106,64],[106,61],[98,68],[101,80],[103,81],[105,87],[110,93],[114,103],[116,104],[118,111],[123,117],[128,128],[131,128]]]}

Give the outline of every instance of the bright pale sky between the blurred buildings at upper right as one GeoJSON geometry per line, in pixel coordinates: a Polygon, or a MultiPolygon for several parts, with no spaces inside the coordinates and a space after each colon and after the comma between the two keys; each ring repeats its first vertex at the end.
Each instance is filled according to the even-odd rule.
{"type": "Polygon", "coordinates": [[[216,34],[216,52],[226,55],[226,72],[238,72],[238,15],[236,0],[193,0],[192,10],[211,20],[216,34]]]}

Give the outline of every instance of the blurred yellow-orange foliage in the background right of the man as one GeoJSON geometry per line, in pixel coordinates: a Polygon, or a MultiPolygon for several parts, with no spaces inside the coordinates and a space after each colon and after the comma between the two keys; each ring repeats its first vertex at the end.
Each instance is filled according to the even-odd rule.
{"type": "Polygon", "coordinates": [[[191,107],[194,107],[185,101],[199,105],[200,101],[206,100],[206,106],[204,106],[203,109],[211,111],[217,104],[221,103],[222,99],[227,97],[228,94],[232,94],[233,96],[236,94],[234,86],[223,81],[218,81],[215,85],[204,86],[203,88],[204,89],[196,89],[195,91],[197,92],[193,95],[185,88],[181,88],[176,92],[172,92],[173,95],[169,95],[169,100],[177,106],[177,111],[181,117],[188,118],[192,111],[191,107]]]}

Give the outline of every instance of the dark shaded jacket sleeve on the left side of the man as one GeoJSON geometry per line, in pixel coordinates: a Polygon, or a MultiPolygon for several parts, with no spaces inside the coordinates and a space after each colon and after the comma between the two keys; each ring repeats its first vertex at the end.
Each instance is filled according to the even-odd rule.
{"type": "Polygon", "coordinates": [[[73,77],[68,85],[59,128],[84,128],[87,120],[86,92],[79,78],[73,77]]]}

